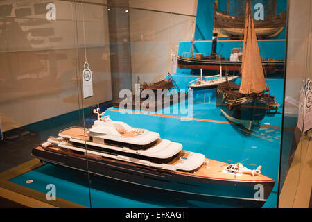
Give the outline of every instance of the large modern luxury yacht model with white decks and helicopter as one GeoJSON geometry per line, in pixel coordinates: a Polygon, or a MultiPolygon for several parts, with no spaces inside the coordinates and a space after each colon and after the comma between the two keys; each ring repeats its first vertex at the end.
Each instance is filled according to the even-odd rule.
{"type": "Polygon", "coordinates": [[[89,170],[107,178],[200,197],[237,201],[244,207],[261,207],[274,180],[261,174],[237,175],[227,171],[224,162],[182,150],[182,144],[160,139],[158,133],[128,126],[104,117],[92,128],[72,127],[59,137],[33,149],[32,155],[44,162],[89,170]],[[86,155],[87,153],[87,155],[86,155]],[[254,198],[254,185],[263,185],[263,200],[254,198]]]}

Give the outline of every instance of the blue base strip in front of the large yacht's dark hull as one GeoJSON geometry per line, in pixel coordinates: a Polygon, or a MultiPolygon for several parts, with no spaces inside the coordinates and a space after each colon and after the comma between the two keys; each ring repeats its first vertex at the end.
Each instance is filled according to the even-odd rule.
{"type": "MultiPolygon", "coordinates": [[[[18,185],[35,189],[46,194],[46,186],[56,187],[56,198],[90,207],[89,187],[86,173],[62,169],[51,164],[34,169],[10,180],[18,185]],[[27,180],[33,180],[27,184],[27,180]]],[[[90,188],[92,207],[102,208],[163,208],[163,207],[225,207],[201,200],[177,198],[172,194],[161,194],[157,191],[146,191],[142,187],[132,186],[106,178],[92,178],[90,188]]]]}

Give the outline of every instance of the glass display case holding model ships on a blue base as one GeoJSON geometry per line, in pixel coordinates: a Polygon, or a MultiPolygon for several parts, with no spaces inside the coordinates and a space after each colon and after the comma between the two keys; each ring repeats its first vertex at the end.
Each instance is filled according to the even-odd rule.
{"type": "Polygon", "coordinates": [[[291,168],[295,89],[311,78],[288,65],[291,6],[1,1],[0,196],[31,207],[279,207],[289,172],[297,187],[305,166],[291,168]]]}

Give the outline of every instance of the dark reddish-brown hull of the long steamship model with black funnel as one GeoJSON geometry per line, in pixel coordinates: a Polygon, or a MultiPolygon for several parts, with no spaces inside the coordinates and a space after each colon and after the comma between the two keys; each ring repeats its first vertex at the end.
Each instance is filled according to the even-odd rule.
{"type": "MultiPolygon", "coordinates": [[[[223,70],[232,73],[241,71],[241,62],[232,62],[228,60],[196,60],[192,58],[178,56],[177,65],[180,69],[192,69],[193,71],[197,71],[200,69],[218,71],[220,69],[220,66],[222,66],[223,70]]],[[[284,61],[262,61],[262,67],[266,74],[284,71],[284,61]]]]}

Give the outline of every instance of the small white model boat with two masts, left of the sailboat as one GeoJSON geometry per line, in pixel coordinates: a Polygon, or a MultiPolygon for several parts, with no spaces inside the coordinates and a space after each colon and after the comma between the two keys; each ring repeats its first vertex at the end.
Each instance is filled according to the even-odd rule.
{"type": "Polygon", "coordinates": [[[202,69],[200,69],[200,78],[196,78],[189,82],[189,89],[200,90],[200,89],[215,89],[220,83],[225,83],[227,81],[232,81],[238,78],[239,76],[227,76],[222,77],[222,68],[220,67],[220,74],[216,76],[205,77],[205,80],[202,78],[202,69]],[[214,79],[211,79],[214,78],[214,79]]]}

